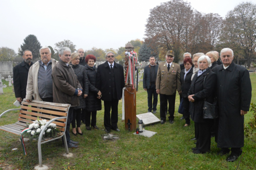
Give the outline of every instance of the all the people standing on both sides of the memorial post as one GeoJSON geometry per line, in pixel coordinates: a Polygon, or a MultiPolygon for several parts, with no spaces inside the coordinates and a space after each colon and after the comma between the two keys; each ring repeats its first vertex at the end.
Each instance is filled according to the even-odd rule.
{"type": "MultiPolygon", "coordinates": [[[[70,139],[73,135],[83,135],[81,121],[86,129],[99,129],[96,126],[97,111],[104,102],[104,127],[107,133],[120,131],[118,122],[118,102],[125,86],[124,68],[114,61],[114,52],[106,53],[106,62],[95,67],[94,55],[84,56],[84,50],[71,53],[68,47],[59,49],[59,61],[51,58],[51,49],[40,49],[41,60],[32,62],[32,52],[23,52],[24,61],[13,68],[15,97],[19,102],[25,99],[54,103],[66,103],[71,107],[68,113],[66,140],[69,148],[77,148],[78,143],[70,139]],[[111,113],[110,113],[111,112],[111,113]]],[[[252,86],[247,69],[232,62],[233,51],[224,48],[219,53],[184,53],[183,64],[173,62],[174,51],[166,54],[166,62],[159,65],[155,57],[149,58],[145,67],[143,88],[148,94],[148,112],[155,114],[158,94],[160,96],[161,124],[174,123],[176,91],[180,95],[184,128],[190,125],[190,117],[195,122],[196,147],[193,153],[210,151],[211,135],[215,133],[219,154],[231,154],[227,161],[233,162],[241,155],[244,146],[244,115],[249,111],[252,86]],[[153,104],[152,104],[153,97],[153,104]],[[204,101],[218,103],[219,117],[203,118],[204,101]],[[169,103],[169,107],[168,107],[169,103]]],[[[62,139],[62,145],[64,141],[62,139]]]]}

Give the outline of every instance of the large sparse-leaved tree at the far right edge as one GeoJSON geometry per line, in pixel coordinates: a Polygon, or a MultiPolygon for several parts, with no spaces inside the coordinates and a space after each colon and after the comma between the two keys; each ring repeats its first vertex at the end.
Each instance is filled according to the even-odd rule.
{"type": "Polygon", "coordinates": [[[256,47],[256,5],[242,2],[229,11],[222,32],[224,43],[239,44],[250,67],[256,47]]]}

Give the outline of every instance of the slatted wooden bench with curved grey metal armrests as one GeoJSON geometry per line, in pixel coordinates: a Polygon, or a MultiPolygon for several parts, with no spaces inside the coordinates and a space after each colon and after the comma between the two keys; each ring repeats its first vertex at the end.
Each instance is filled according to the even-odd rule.
{"type": "MultiPolygon", "coordinates": [[[[67,155],[69,154],[66,135],[65,135],[69,108],[70,108],[70,104],[51,103],[51,102],[43,102],[43,101],[37,101],[37,100],[32,100],[32,102],[28,103],[25,100],[23,100],[20,108],[10,109],[8,111],[3,112],[0,115],[0,118],[1,118],[4,114],[10,111],[19,110],[18,121],[13,124],[0,126],[0,130],[20,136],[22,130],[27,128],[27,124],[32,124],[33,121],[37,119],[39,120],[46,119],[48,122],[43,127],[38,138],[39,166],[37,167],[40,167],[39,169],[43,169],[43,167],[47,167],[47,166],[42,165],[42,152],[41,152],[42,143],[56,140],[63,136],[65,148],[66,148],[66,154],[67,155]],[[50,123],[55,123],[58,129],[60,130],[60,133],[57,135],[56,138],[45,138],[43,140],[42,139],[43,132],[46,130],[47,126],[50,123]]],[[[35,169],[37,167],[35,167],[35,169]]]]}

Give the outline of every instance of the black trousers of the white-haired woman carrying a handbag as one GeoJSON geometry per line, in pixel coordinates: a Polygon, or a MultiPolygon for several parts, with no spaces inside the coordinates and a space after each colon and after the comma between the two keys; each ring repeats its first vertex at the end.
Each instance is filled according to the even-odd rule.
{"type": "Polygon", "coordinates": [[[211,125],[213,119],[205,119],[203,123],[197,123],[198,126],[198,139],[196,148],[201,152],[209,152],[211,149],[211,125]]]}

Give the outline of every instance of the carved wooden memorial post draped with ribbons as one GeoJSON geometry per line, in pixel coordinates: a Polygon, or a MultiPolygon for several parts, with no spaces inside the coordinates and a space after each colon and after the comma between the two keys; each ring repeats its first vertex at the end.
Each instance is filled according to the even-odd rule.
{"type": "Polygon", "coordinates": [[[135,65],[137,54],[128,43],[125,47],[125,129],[136,130],[136,81],[135,65]]]}

